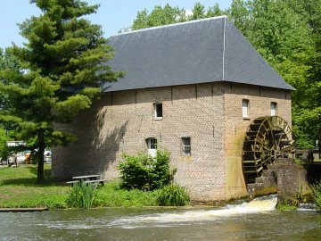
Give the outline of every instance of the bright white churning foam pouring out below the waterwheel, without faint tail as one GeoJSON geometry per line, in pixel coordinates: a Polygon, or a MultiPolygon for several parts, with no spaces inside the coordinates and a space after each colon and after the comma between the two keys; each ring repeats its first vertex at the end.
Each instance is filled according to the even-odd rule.
{"type": "Polygon", "coordinates": [[[216,220],[224,217],[240,215],[245,213],[268,212],[276,209],[276,195],[259,197],[250,203],[229,204],[222,209],[187,211],[179,213],[156,213],[150,215],[139,215],[135,217],[122,218],[113,221],[113,225],[122,226],[127,229],[136,228],[135,224],[158,223],[166,224],[173,222],[185,222],[193,220],[216,220]]]}

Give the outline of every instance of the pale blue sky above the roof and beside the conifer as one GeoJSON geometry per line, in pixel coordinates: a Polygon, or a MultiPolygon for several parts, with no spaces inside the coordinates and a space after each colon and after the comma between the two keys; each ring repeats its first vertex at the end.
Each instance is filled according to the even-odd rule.
{"type": "MultiPolygon", "coordinates": [[[[228,8],[232,0],[89,0],[89,4],[100,4],[96,14],[88,16],[93,23],[103,27],[105,37],[117,34],[119,29],[129,27],[136,18],[138,11],[146,8],[152,10],[155,5],[165,5],[193,9],[196,2],[206,7],[218,3],[221,9],[228,8]]],[[[1,0],[0,1],[0,47],[12,46],[12,42],[21,46],[26,40],[20,36],[17,23],[29,19],[31,15],[39,15],[40,11],[29,0],[1,0]]]]}

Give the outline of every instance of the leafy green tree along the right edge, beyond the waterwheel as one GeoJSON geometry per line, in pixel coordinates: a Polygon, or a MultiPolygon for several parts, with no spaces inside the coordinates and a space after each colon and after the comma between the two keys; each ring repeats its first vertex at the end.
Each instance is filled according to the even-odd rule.
{"type": "Polygon", "coordinates": [[[299,145],[314,147],[315,140],[321,142],[321,1],[284,1],[306,22],[312,40],[313,52],[307,61],[308,78],[300,91],[304,95],[293,108],[293,120],[299,145]]]}

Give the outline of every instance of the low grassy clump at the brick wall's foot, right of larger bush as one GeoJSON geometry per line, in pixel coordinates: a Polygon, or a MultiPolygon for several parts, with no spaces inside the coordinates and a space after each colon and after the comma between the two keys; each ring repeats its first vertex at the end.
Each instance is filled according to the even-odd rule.
{"type": "Polygon", "coordinates": [[[157,202],[160,206],[184,206],[190,203],[190,197],[184,187],[170,184],[162,187],[157,202]]]}

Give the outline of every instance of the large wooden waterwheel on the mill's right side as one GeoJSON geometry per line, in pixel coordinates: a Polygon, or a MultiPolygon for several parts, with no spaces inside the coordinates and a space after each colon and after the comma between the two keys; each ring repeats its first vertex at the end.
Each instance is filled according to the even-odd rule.
{"type": "Polygon", "coordinates": [[[276,158],[286,156],[293,145],[292,130],[278,116],[258,118],[251,122],[243,143],[243,174],[246,183],[268,169],[276,158]]]}

